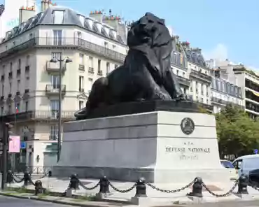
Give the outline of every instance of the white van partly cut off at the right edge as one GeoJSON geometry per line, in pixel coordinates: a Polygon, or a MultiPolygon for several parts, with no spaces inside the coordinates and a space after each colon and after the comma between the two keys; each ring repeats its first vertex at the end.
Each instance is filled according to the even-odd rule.
{"type": "Polygon", "coordinates": [[[249,175],[251,171],[259,169],[259,155],[244,155],[235,159],[232,164],[239,176],[243,173],[249,175]]]}

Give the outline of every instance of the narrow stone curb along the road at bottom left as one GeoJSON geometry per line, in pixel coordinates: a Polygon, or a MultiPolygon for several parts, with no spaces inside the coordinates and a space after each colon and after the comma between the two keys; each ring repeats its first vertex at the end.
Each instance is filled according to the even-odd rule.
{"type": "MultiPolygon", "coordinates": [[[[66,201],[57,201],[57,200],[49,200],[49,199],[41,199],[41,198],[35,198],[35,197],[22,197],[22,196],[18,196],[18,195],[12,195],[12,194],[5,194],[3,192],[0,192],[1,196],[5,196],[5,197],[13,197],[16,199],[27,199],[27,200],[34,200],[34,201],[44,201],[44,202],[48,202],[48,203],[52,203],[52,204],[62,204],[62,205],[66,205],[66,206],[83,206],[83,207],[97,207],[97,205],[91,205],[91,204],[76,204],[76,203],[70,203],[70,202],[66,202],[66,201]]],[[[109,207],[109,205],[104,205],[102,207],[109,207]]]]}

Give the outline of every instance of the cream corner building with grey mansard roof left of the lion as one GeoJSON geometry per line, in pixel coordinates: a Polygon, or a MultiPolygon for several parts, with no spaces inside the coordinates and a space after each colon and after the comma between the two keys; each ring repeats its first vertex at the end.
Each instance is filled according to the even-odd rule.
{"type": "Polygon", "coordinates": [[[26,143],[17,159],[27,166],[56,163],[59,90],[62,122],[74,120],[94,80],[123,64],[127,54],[127,29],[118,17],[101,12],[85,17],[44,2],[42,9],[31,16],[20,10],[24,21],[0,44],[1,119],[11,122],[14,133],[26,143]],[[72,62],[55,64],[50,62],[53,57],[69,57],[72,62]]]}

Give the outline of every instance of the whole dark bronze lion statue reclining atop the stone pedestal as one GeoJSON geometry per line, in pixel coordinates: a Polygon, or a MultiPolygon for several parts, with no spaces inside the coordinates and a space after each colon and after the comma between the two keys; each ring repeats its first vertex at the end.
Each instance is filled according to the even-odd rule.
{"type": "Polygon", "coordinates": [[[97,79],[85,108],[75,113],[82,120],[100,106],[154,99],[185,100],[171,69],[172,36],[165,20],[146,13],[127,34],[129,52],[122,66],[97,79]]]}

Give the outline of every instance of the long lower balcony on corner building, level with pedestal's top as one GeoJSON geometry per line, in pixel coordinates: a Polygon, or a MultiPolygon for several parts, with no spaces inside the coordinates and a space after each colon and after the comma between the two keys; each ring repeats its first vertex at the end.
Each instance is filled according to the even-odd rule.
{"type": "MultiPolygon", "coordinates": [[[[62,122],[72,121],[76,118],[74,117],[74,110],[62,110],[61,117],[62,122]]],[[[51,110],[35,110],[35,111],[20,111],[19,113],[8,112],[1,116],[1,119],[6,122],[28,122],[28,121],[54,121],[57,122],[58,120],[58,111],[51,111],[51,110]]]]}

